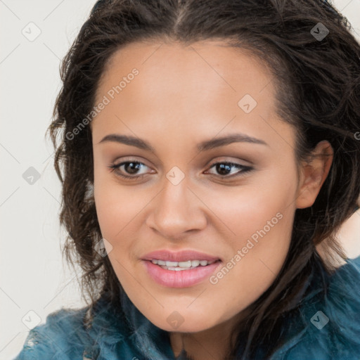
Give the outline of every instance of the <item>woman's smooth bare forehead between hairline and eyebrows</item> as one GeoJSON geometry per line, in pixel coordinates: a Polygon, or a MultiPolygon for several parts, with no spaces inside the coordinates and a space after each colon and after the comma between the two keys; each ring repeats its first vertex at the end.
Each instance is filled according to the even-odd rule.
{"type": "Polygon", "coordinates": [[[200,139],[199,134],[212,137],[240,126],[250,136],[261,128],[267,136],[264,122],[276,116],[268,68],[248,51],[221,41],[124,46],[110,58],[98,84],[96,103],[104,97],[108,104],[91,122],[94,143],[110,131],[131,134],[131,129],[174,139],[180,128],[188,129],[200,139]]]}

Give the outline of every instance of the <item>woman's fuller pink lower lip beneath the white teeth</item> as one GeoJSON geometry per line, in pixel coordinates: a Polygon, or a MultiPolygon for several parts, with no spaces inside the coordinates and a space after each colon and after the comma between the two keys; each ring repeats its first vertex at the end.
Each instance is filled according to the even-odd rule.
{"type": "Polygon", "coordinates": [[[205,278],[209,278],[221,264],[217,261],[206,266],[199,265],[196,269],[174,271],[162,269],[150,261],[144,261],[144,263],[151,278],[168,288],[188,288],[201,283],[205,278]]]}

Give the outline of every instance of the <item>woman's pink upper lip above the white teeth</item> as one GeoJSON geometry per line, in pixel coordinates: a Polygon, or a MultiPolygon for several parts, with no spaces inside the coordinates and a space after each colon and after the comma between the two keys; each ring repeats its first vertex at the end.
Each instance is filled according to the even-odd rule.
{"type": "Polygon", "coordinates": [[[143,260],[163,260],[168,262],[186,262],[187,260],[207,260],[208,262],[220,260],[219,257],[207,255],[203,252],[195,250],[181,250],[178,252],[171,252],[169,250],[156,250],[149,252],[143,258],[143,260]]]}

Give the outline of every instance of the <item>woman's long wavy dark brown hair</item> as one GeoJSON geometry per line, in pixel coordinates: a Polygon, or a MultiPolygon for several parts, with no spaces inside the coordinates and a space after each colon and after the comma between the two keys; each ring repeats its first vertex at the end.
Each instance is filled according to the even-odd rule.
{"type": "Polygon", "coordinates": [[[123,46],[135,41],[190,45],[221,40],[256,56],[271,71],[277,113],[296,130],[298,163],[309,159],[319,141],[328,141],[334,152],[314,205],[295,211],[280,273],[247,308],[245,332],[234,329],[228,358],[235,358],[244,334],[242,359],[251,359],[261,341],[271,344],[267,356],[274,351],[276,342],[269,339],[285,311],[297,307],[311,273],[321,264],[331,274],[333,259],[346,259],[337,233],[354,212],[360,193],[360,141],[354,135],[360,129],[360,46],[349,30],[347,18],[320,0],[98,1],[63,58],[63,86],[48,129],[62,184],[60,225],[68,231],[63,252],[68,262],[81,266],[82,296],[89,296],[91,305],[106,293],[118,307],[123,289],[108,257],[95,248],[102,236],[89,191],[94,184],[91,129],[84,127],[73,139],[67,134],[93,110],[105,66],[123,46]],[[311,34],[318,23],[328,29],[321,40],[311,34]],[[323,259],[316,252],[320,243],[323,259]]]}

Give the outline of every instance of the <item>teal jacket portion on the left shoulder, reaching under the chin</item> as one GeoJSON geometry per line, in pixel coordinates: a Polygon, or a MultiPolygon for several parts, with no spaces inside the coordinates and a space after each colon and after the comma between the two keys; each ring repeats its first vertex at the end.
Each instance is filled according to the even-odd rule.
{"type": "MultiPolygon", "coordinates": [[[[127,302],[113,306],[101,297],[94,307],[60,309],[30,330],[20,354],[13,360],[122,360],[169,359],[158,356],[158,342],[167,345],[166,332],[154,326],[124,295],[127,302]],[[127,307],[126,305],[131,305],[127,307]],[[163,343],[162,343],[163,342],[163,343]]],[[[161,354],[160,354],[161,355],[161,354]]]]}

